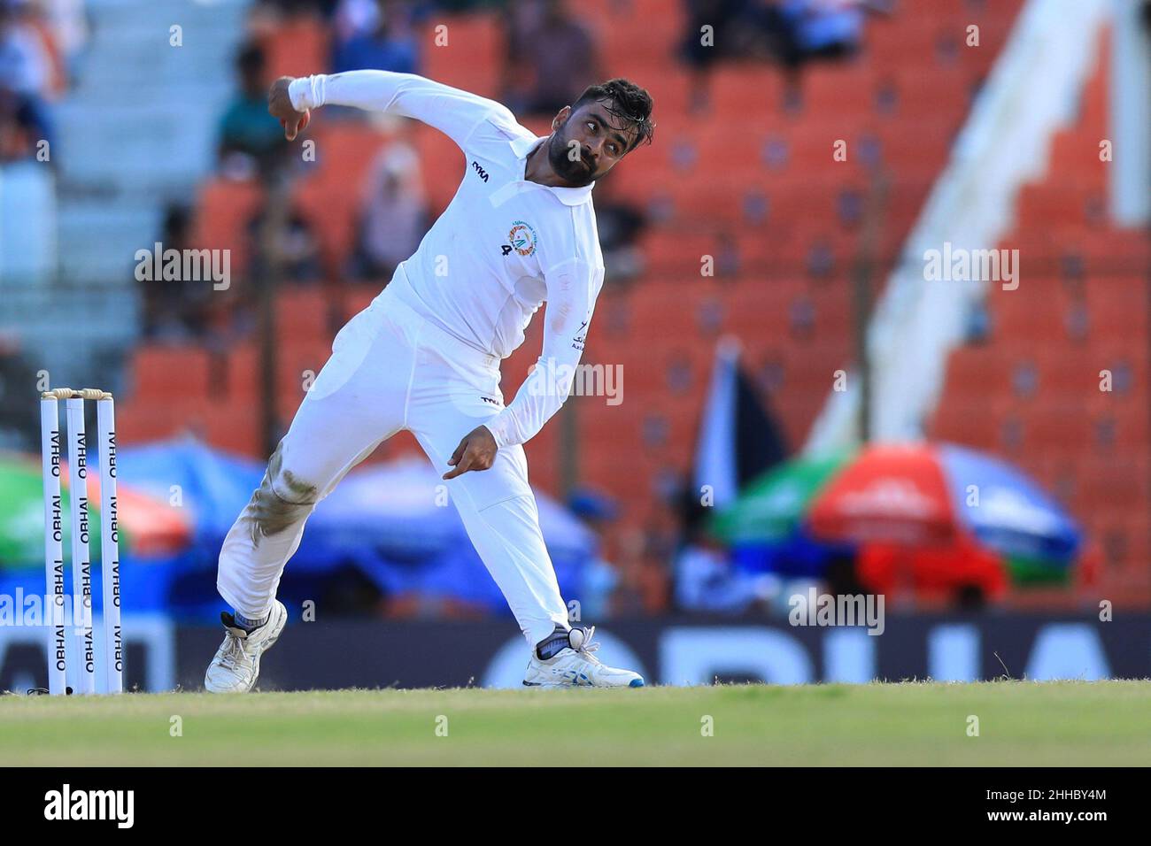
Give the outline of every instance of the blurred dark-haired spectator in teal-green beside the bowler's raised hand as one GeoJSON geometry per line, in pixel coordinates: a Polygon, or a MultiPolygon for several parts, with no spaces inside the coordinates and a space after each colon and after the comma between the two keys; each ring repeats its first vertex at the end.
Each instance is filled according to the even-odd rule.
{"type": "Polygon", "coordinates": [[[268,79],[264,51],[254,44],[236,58],[239,91],[220,119],[220,160],[233,175],[267,170],[285,148],[283,128],[268,114],[268,79]]]}

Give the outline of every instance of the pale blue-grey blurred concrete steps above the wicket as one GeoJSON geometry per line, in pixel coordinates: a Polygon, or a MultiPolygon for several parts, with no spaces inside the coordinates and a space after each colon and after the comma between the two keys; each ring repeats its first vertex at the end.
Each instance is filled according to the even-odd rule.
{"type": "Polygon", "coordinates": [[[134,254],[160,235],[165,204],[213,165],[246,0],[90,0],[77,79],[55,106],[59,280],[6,294],[30,353],[55,383],[119,369],[140,320],[134,254]],[[183,46],[168,44],[183,26],[183,46]],[[76,321],[77,314],[87,320],[76,321]],[[71,343],[60,344],[69,325],[71,343]],[[63,350],[63,351],[61,351],[63,350]]]}

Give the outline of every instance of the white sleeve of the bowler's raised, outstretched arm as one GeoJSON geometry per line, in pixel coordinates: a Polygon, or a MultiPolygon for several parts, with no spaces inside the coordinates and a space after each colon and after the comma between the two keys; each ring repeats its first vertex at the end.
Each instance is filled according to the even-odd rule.
{"type": "Polygon", "coordinates": [[[325,105],[386,112],[435,127],[459,146],[494,112],[508,112],[495,100],[416,74],[390,70],[348,70],[300,77],[290,82],[287,93],[289,106],[297,114],[325,105]]]}

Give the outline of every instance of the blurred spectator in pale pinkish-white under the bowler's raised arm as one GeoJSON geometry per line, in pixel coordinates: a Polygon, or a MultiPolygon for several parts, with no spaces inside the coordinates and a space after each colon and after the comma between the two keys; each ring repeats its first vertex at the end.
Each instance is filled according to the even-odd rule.
{"type": "Polygon", "coordinates": [[[419,246],[428,226],[420,159],[402,139],[376,155],[360,207],[353,279],[391,279],[396,265],[419,246]]]}

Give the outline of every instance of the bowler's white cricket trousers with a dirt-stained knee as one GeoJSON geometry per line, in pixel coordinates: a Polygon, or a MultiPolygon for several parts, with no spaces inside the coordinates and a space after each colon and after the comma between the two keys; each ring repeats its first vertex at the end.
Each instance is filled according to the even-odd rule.
{"type": "MultiPolygon", "coordinates": [[[[308,515],[376,445],[409,429],[442,474],[464,435],[503,409],[500,359],[425,320],[397,296],[397,284],[406,284],[399,274],[341,329],[264,482],[224,539],[216,587],[244,617],[268,613],[308,515]]],[[[445,485],[528,645],[566,626],[524,448],[505,447],[489,470],[445,485]]]]}

